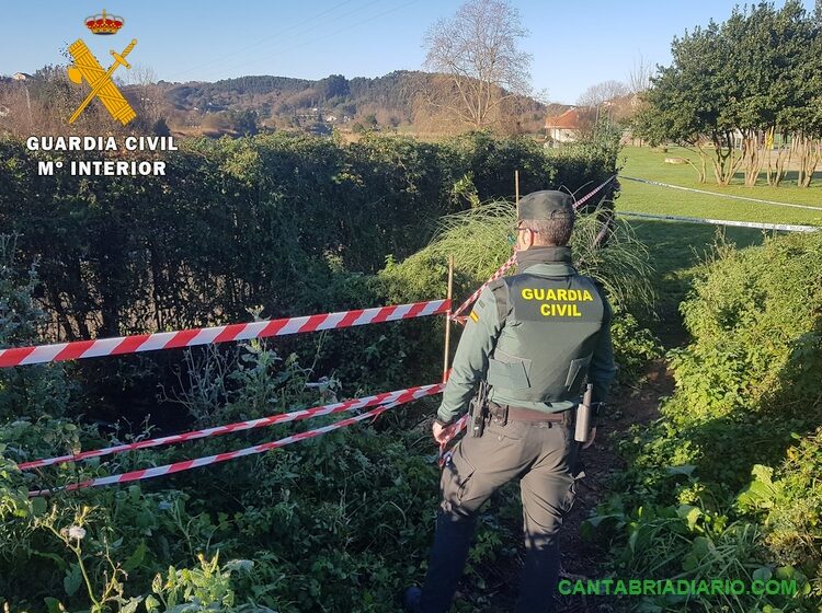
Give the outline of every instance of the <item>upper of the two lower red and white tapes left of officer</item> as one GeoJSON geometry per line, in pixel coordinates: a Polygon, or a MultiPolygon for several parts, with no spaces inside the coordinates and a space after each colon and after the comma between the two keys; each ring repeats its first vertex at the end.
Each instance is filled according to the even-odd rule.
{"type": "Polygon", "coordinates": [[[443,391],[444,384],[436,383],[433,385],[419,385],[416,388],[408,388],[406,390],[398,390],[396,392],[384,392],[373,396],[366,396],[364,398],[355,398],[324,406],[318,406],[313,408],[305,408],[301,410],[295,410],[292,413],[281,413],[278,415],[272,415],[269,417],[261,417],[259,419],[249,419],[247,421],[237,421],[235,424],[227,424],[225,426],[216,426],[213,428],[205,428],[203,430],[193,430],[190,432],[183,432],[180,435],[170,435],[168,437],[160,437],[157,439],[147,439],[127,444],[117,444],[114,447],[106,447],[104,449],[95,449],[92,451],[83,451],[81,453],[75,453],[72,455],[60,455],[58,458],[47,458],[44,460],[33,460],[31,462],[23,462],[18,464],[18,469],[21,471],[30,471],[32,469],[39,469],[43,466],[52,466],[54,464],[65,464],[67,462],[79,462],[81,460],[88,460],[90,458],[101,458],[103,455],[111,455],[113,453],[123,453],[125,451],[137,451],[139,449],[148,449],[152,447],[161,447],[165,444],[173,444],[178,442],[184,442],[189,440],[202,439],[206,437],[218,437],[228,435],[230,432],[240,432],[243,430],[251,430],[253,428],[263,428],[266,426],[273,426],[274,424],[285,424],[287,421],[298,421],[301,419],[310,419],[311,417],[319,417],[320,415],[332,415],[334,413],[342,413],[345,410],[354,410],[358,408],[366,408],[369,406],[388,404],[388,403],[400,403],[404,404],[411,401],[422,398],[424,396],[431,396],[438,394],[443,391]]]}

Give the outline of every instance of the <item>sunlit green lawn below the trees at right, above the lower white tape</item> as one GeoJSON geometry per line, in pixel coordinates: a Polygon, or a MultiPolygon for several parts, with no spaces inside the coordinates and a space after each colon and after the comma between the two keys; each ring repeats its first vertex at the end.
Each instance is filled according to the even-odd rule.
{"type": "Polygon", "coordinates": [[[791,184],[790,180],[779,187],[770,187],[764,184],[764,178],[761,178],[761,184],[755,187],[745,187],[741,174],[734,178],[733,184],[720,186],[712,182],[710,165],[708,166],[708,182],[698,183],[696,171],[689,164],[667,164],[664,161],[665,158],[686,157],[693,160],[698,159],[695,153],[677,147],[669,148],[667,152],[646,147],[626,147],[619,155],[620,163],[624,163],[621,174],[718,194],[819,207],[819,212],[682,192],[628,180],[620,181],[621,194],[617,200],[617,210],[764,223],[822,225],[822,172],[815,173],[814,182],[808,188],[797,187],[795,183],[791,184]]]}

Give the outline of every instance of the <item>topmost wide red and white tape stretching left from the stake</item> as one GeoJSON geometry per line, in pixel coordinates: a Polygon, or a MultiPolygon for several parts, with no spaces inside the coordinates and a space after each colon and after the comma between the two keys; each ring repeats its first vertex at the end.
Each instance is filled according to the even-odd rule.
{"type": "Polygon", "coordinates": [[[353,327],[437,315],[447,313],[449,308],[450,302],[448,300],[430,300],[427,302],[414,302],[395,307],[357,309],[339,313],[266,320],[247,324],[118,336],[116,338],[99,338],[96,340],[78,340],[35,347],[14,347],[11,349],[0,349],[0,368],[96,358],[100,356],[119,356],[157,349],[179,349],[196,345],[210,345],[213,343],[248,340],[249,338],[265,338],[320,329],[353,327]]]}

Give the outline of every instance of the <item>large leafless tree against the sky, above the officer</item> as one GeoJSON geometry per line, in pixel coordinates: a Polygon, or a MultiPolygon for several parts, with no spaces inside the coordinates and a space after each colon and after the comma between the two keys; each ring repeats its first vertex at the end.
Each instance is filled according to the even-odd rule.
{"type": "Polygon", "coordinates": [[[506,0],[469,0],[435,23],[424,39],[425,67],[438,73],[427,103],[473,128],[496,123],[505,101],[530,91],[532,56],[517,48],[527,34],[506,0]]]}

